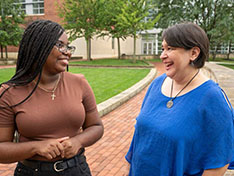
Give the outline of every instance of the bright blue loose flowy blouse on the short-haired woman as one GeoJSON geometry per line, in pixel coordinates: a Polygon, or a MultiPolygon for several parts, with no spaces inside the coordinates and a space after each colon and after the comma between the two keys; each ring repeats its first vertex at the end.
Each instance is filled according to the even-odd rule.
{"type": "Polygon", "coordinates": [[[178,96],[172,108],[156,78],[144,98],[126,160],[129,176],[200,176],[234,156],[233,108],[208,80],[178,96]]]}

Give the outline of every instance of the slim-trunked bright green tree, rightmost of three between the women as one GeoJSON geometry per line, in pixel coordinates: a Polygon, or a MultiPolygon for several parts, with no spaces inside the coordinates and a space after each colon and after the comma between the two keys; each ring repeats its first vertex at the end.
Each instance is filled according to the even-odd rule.
{"type": "Polygon", "coordinates": [[[133,62],[136,62],[136,39],[137,35],[144,30],[152,29],[160,18],[145,20],[149,11],[154,8],[149,0],[125,0],[122,4],[121,13],[117,15],[116,21],[121,29],[128,29],[126,35],[133,37],[133,62]]]}

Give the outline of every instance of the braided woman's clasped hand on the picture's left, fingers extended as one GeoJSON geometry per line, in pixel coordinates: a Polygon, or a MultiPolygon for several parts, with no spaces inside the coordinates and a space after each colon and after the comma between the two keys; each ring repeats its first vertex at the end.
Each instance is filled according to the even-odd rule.
{"type": "Polygon", "coordinates": [[[47,158],[48,160],[58,156],[64,158],[64,147],[61,143],[67,139],[69,139],[69,137],[40,141],[40,143],[36,146],[36,153],[47,158]]]}

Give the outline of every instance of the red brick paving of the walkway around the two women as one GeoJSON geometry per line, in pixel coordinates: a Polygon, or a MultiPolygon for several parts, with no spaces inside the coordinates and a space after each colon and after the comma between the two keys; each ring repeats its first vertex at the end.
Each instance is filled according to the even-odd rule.
{"type": "MultiPolygon", "coordinates": [[[[157,76],[164,72],[162,63],[155,63],[157,76]]],[[[86,148],[87,162],[93,176],[122,176],[135,118],[140,112],[147,88],[126,103],[102,117],[104,135],[86,148]]],[[[0,176],[12,176],[15,164],[0,164],[0,176]]]]}

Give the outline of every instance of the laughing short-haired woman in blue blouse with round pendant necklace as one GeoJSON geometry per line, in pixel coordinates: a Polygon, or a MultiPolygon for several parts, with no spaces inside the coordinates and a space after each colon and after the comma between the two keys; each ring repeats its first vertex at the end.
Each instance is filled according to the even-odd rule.
{"type": "Polygon", "coordinates": [[[126,155],[129,176],[221,176],[234,152],[233,108],[221,88],[199,71],[209,53],[193,23],[162,35],[166,73],[144,98],[126,155]]]}

